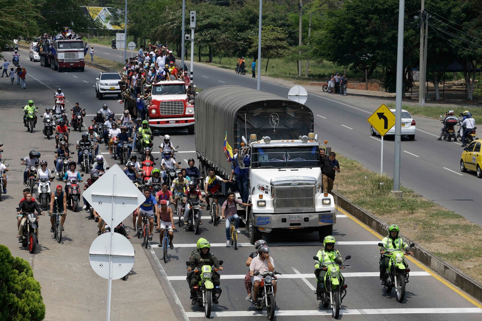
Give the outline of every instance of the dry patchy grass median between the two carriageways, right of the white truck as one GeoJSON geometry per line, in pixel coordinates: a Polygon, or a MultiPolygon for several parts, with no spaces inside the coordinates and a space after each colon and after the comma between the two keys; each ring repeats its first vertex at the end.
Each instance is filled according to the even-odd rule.
{"type": "Polygon", "coordinates": [[[355,160],[337,154],[343,170],[336,175],[338,192],[433,255],[482,282],[482,227],[402,187],[403,199],[390,193],[393,180],[355,160]]]}

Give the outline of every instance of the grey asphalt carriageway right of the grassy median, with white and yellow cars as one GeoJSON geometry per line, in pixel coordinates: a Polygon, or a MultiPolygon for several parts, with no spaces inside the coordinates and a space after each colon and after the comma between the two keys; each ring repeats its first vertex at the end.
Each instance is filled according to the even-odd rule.
{"type": "MultiPolygon", "coordinates": [[[[97,54],[104,58],[112,59],[111,57],[119,55],[119,51],[105,46],[97,46],[97,50],[97,54]]],[[[121,55],[123,54],[122,52],[121,55]]],[[[236,75],[233,70],[205,64],[194,65],[194,79],[201,88],[221,85],[256,88],[256,79],[250,75],[236,75]]],[[[289,87],[262,80],[261,90],[287,97],[289,87]]],[[[334,152],[356,159],[369,169],[379,172],[380,137],[370,136],[370,125],[366,119],[382,103],[395,101],[371,99],[375,103],[367,105],[364,98],[360,98],[359,102],[349,103],[348,101],[353,99],[347,97],[330,96],[321,90],[316,94],[308,94],[306,105],[316,115],[315,132],[320,135],[321,141],[328,140],[334,152]]],[[[441,127],[438,120],[416,117],[416,127],[415,141],[402,138],[402,185],[482,225],[482,217],[479,215],[482,207],[480,180],[474,172],[460,172],[461,143],[437,141],[441,127]]],[[[305,133],[300,133],[302,134],[305,133]]],[[[387,137],[384,140],[383,158],[384,173],[393,176],[393,138],[387,137]]],[[[341,166],[343,167],[343,164],[341,166]]]]}

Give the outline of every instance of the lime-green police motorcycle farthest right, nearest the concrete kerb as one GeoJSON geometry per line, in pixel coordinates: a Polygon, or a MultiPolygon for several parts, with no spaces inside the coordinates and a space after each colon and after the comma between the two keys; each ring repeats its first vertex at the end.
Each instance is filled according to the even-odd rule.
{"type": "MultiPolygon", "coordinates": [[[[378,243],[378,246],[384,248],[383,243],[378,243]]],[[[415,243],[410,244],[410,248],[414,246],[415,243]]],[[[410,269],[405,262],[405,255],[409,255],[408,250],[406,251],[406,253],[403,253],[403,250],[400,248],[384,250],[388,253],[382,254],[380,256],[380,260],[383,257],[390,258],[390,260],[388,261],[388,268],[384,276],[385,292],[391,292],[391,289],[394,287],[395,293],[397,295],[397,301],[402,302],[403,298],[405,297],[405,284],[408,283],[408,277],[410,273],[410,269]]]]}

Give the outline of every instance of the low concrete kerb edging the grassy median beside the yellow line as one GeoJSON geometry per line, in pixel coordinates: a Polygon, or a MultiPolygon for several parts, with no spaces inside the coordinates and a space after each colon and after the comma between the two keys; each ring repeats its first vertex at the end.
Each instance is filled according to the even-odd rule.
{"type": "MultiPolygon", "coordinates": [[[[335,199],[337,199],[337,205],[347,211],[348,214],[359,219],[363,224],[376,231],[380,235],[387,234],[389,224],[385,223],[383,220],[377,218],[375,215],[369,213],[363,208],[351,204],[346,197],[339,194],[336,197],[336,193],[334,191],[332,191],[332,193],[335,195],[335,199]]],[[[461,290],[467,292],[469,295],[472,295],[477,300],[482,301],[482,284],[480,282],[472,279],[461,270],[455,268],[453,265],[433,256],[430,252],[428,252],[427,249],[420,246],[416,242],[413,242],[409,239],[406,239],[406,241],[408,243],[415,243],[413,252],[414,257],[417,260],[428,266],[430,269],[436,271],[443,278],[455,284],[455,286],[461,290]]]]}

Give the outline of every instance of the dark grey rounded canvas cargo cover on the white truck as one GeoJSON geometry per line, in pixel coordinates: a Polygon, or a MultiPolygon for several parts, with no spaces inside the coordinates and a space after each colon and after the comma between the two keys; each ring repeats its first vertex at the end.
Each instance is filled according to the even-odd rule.
{"type": "MultiPolygon", "coordinates": [[[[286,91],[286,95],[288,90],[286,91]]],[[[301,104],[268,92],[241,86],[218,86],[201,91],[196,97],[196,150],[218,170],[231,172],[223,153],[226,136],[232,147],[239,147],[241,136],[258,140],[293,140],[313,132],[313,113],[301,104]]]]}

